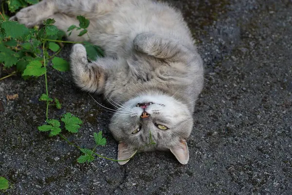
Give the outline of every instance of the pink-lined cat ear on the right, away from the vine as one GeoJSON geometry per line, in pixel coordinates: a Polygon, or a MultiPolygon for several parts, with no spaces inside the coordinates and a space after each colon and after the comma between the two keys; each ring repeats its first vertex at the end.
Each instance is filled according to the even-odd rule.
{"type": "Polygon", "coordinates": [[[179,144],[170,148],[170,151],[181,164],[187,164],[189,160],[189,154],[185,139],[182,139],[179,144]]]}

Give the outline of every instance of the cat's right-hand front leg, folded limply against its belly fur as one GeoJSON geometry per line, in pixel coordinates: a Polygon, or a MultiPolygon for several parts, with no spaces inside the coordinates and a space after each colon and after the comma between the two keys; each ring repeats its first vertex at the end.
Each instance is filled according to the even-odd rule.
{"type": "Polygon", "coordinates": [[[190,50],[178,41],[166,39],[153,33],[139,34],[133,43],[136,51],[167,61],[187,63],[193,56],[190,50]]]}

